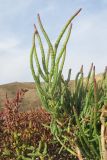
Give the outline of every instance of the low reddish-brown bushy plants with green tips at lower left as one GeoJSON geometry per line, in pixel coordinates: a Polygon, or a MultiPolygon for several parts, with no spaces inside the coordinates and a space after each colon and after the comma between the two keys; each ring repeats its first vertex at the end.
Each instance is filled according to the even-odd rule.
{"type": "Polygon", "coordinates": [[[19,112],[23,92],[19,90],[13,99],[6,95],[5,106],[0,112],[0,160],[55,160],[66,156],[70,159],[66,151],[59,155],[61,145],[45,127],[51,121],[49,113],[43,108],[19,112]]]}

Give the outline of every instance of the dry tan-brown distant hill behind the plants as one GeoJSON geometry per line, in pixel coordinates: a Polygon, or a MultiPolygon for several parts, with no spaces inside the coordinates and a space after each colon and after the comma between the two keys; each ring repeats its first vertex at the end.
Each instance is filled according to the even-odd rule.
{"type": "MultiPolygon", "coordinates": [[[[102,77],[102,74],[96,75],[96,79],[100,80],[102,77]]],[[[74,81],[70,81],[71,88],[74,88],[74,81]]],[[[0,85],[0,108],[4,106],[4,100],[6,97],[6,93],[9,98],[14,98],[16,95],[16,92],[20,89],[28,89],[28,91],[25,93],[22,105],[21,105],[21,111],[25,111],[28,109],[35,109],[39,106],[41,106],[41,102],[39,100],[39,97],[37,96],[35,84],[33,82],[14,82],[9,84],[0,85]]]]}

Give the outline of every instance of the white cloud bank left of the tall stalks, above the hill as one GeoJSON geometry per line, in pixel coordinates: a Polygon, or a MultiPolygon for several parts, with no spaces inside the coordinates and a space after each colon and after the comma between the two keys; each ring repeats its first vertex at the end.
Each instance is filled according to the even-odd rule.
{"type": "Polygon", "coordinates": [[[27,81],[26,75],[31,75],[29,52],[27,47],[20,47],[20,42],[15,37],[0,43],[0,84],[22,79],[27,81]]]}

